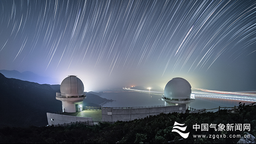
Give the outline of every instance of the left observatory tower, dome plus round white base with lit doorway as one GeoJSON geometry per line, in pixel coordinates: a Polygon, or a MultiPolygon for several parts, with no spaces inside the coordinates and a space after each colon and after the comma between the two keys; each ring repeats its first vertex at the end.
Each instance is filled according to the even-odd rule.
{"type": "Polygon", "coordinates": [[[56,92],[56,100],[62,102],[62,111],[75,113],[83,110],[83,82],[77,76],[68,76],[60,85],[60,92],[56,92]]]}

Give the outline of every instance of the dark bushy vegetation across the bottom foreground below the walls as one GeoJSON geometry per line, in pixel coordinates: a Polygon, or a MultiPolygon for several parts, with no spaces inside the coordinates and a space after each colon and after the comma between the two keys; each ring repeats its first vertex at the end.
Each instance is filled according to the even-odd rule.
{"type": "MultiPolygon", "coordinates": [[[[225,128],[226,129],[226,128],[225,128]]],[[[228,135],[241,135],[245,132],[256,136],[256,105],[239,105],[236,113],[224,109],[219,112],[201,114],[169,113],[148,118],[115,124],[100,123],[96,126],[72,124],[68,127],[3,127],[0,129],[0,143],[236,143],[239,138],[228,135]],[[174,122],[187,126],[183,138],[172,132],[174,122]],[[200,124],[250,124],[250,131],[209,131],[193,129],[200,124]],[[208,138],[194,138],[193,135],[206,135],[208,138]],[[226,135],[226,138],[209,138],[209,135],[226,135]]]]}

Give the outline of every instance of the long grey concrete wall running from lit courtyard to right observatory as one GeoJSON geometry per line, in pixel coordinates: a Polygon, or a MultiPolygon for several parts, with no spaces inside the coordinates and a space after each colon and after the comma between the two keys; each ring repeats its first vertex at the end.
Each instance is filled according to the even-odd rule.
{"type": "Polygon", "coordinates": [[[160,113],[185,113],[186,105],[174,105],[164,107],[131,108],[131,109],[102,109],[103,122],[130,121],[145,118],[160,113]]]}

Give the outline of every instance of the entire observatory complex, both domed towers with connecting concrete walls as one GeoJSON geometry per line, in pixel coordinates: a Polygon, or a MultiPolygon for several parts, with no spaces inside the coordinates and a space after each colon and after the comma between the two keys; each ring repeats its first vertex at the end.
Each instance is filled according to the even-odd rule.
{"type": "Polygon", "coordinates": [[[98,110],[100,110],[100,113],[96,113],[96,111],[90,113],[90,110],[85,110],[79,113],[81,115],[78,116],[75,112],[83,110],[83,100],[86,98],[83,90],[83,82],[77,76],[68,76],[65,78],[61,82],[60,92],[56,93],[56,99],[62,102],[62,113],[46,113],[48,125],[65,126],[66,124],[69,125],[75,122],[94,125],[97,122],[93,121],[92,113],[96,114],[94,118],[100,118],[98,121],[101,122],[130,121],[160,113],[186,113],[188,112],[188,107],[190,107],[190,102],[195,101],[195,98],[191,94],[191,85],[189,82],[183,78],[173,78],[166,84],[164,94],[162,95],[165,105],[147,107],[99,107],[98,110]],[[86,115],[88,113],[90,114],[86,115]]]}

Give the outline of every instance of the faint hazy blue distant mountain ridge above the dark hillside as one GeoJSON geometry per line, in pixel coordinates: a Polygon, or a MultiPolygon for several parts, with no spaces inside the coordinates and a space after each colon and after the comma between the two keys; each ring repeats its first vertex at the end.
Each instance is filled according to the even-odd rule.
{"type": "Polygon", "coordinates": [[[15,78],[39,84],[56,84],[58,81],[56,78],[39,76],[30,71],[19,72],[17,70],[0,70],[0,73],[2,73],[6,78],[15,78]]]}

